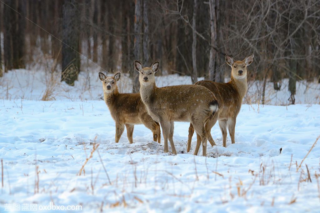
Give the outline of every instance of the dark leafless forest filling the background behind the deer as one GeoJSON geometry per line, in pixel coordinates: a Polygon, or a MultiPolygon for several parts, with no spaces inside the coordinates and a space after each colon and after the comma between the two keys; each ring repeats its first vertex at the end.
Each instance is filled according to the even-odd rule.
{"type": "MultiPolygon", "coordinates": [[[[158,75],[189,75],[195,82],[197,77],[210,73],[211,80],[223,82],[225,53],[234,57],[254,53],[248,80],[249,85],[253,85],[254,80],[263,82],[254,84],[262,103],[268,103],[265,100],[268,81],[279,90],[287,86],[282,83],[283,78],[289,79],[291,86],[287,87],[292,95],[294,82],[320,82],[320,5],[317,0],[4,0],[4,3],[21,13],[14,13],[1,3],[5,72],[24,67],[25,63],[32,64],[39,49],[46,57],[57,57],[60,41],[37,27],[39,25],[66,43],[62,52],[68,57],[61,56],[58,60],[64,71],[74,70],[63,74],[75,73],[76,79],[80,66],[76,52],[85,51],[84,55],[110,72],[120,69],[121,64],[123,72],[130,72],[133,91],[139,90],[133,59],[145,64],[151,59],[160,60],[162,69],[158,75]],[[61,12],[66,10],[66,2],[72,3],[68,14],[61,12]],[[75,39],[66,40],[69,14],[80,14],[80,18],[70,22],[77,25],[69,27],[73,33],[70,36],[75,39]],[[24,16],[37,25],[24,23],[24,16]],[[82,32],[80,38],[76,38],[78,31],[82,32]],[[80,41],[85,44],[83,50],[80,41]],[[290,66],[292,60],[296,66],[290,66]]],[[[73,80],[69,83],[72,85],[73,80]]]]}

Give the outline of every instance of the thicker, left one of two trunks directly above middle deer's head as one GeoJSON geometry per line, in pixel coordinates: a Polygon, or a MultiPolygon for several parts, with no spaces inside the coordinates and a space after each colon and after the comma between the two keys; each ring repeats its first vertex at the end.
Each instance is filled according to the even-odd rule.
{"type": "MultiPolygon", "coordinates": [[[[136,0],[135,1],[135,9],[134,9],[134,48],[133,54],[135,60],[143,61],[142,55],[142,3],[143,0],[136,0]]],[[[139,92],[140,90],[140,83],[139,83],[139,73],[133,71],[133,80],[132,80],[132,90],[133,92],[139,92]]]]}

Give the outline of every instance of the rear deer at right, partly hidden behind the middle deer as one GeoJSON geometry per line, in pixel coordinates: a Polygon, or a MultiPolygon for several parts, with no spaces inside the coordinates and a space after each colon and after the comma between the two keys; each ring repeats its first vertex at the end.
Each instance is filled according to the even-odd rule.
{"type": "MultiPolygon", "coordinates": [[[[206,135],[211,145],[216,145],[211,136],[212,126],[219,120],[222,132],[223,146],[227,147],[227,126],[231,138],[231,143],[235,143],[236,117],[240,111],[242,99],[247,92],[247,66],[252,63],[253,54],[247,56],[243,61],[234,61],[232,57],[226,55],[226,62],[231,66],[231,80],[228,83],[217,83],[209,80],[201,80],[196,85],[207,87],[218,99],[219,110],[208,120],[205,125],[206,135]]],[[[193,124],[190,124],[188,135],[187,151],[190,151],[191,138],[194,133],[193,124]]],[[[199,149],[197,135],[197,147],[199,149]]]]}

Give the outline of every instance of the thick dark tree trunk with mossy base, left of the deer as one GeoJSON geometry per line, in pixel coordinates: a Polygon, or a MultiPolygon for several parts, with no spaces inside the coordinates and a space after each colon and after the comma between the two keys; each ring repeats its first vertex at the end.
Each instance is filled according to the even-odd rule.
{"type": "Polygon", "coordinates": [[[62,6],[61,81],[73,86],[80,70],[78,10],[76,0],[64,0],[62,6]],[[68,44],[68,46],[66,45],[68,44]]]}

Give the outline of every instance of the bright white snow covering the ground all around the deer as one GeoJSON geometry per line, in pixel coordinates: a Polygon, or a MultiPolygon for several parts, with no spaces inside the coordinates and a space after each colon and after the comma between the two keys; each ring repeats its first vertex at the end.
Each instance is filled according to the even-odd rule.
{"type": "MultiPolygon", "coordinates": [[[[318,90],[308,93],[312,103],[297,95],[302,104],[244,104],[236,143],[228,136],[222,147],[216,124],[217,146],[208,143],[203,157],[201,147],[199,156],[192,155],[196,134],[187,153],[189,124],[182,122],[175,122],[173,137],[178,155],[164,153],[163,140],[152,141],[143,125],[134,127],[133,144],[125,131],[116,144],[97,72],[82,73],[75,87],[57,83],[51,101],[40,101],[46,75],[32,72],[8,72],[1,82],[0,212],[6,204],[50,202],[81,205],[85,212],[319,212],[320,141],[308,154],[320,134],[318,90]]],[[[130,85],[127,79],[123,85],[130,85]]],[[[184,77],[157,78],[162,84],[179,80],[189,83],[184,77]]]]}

